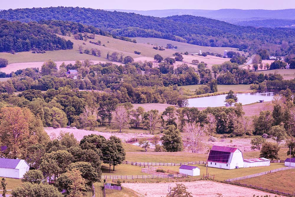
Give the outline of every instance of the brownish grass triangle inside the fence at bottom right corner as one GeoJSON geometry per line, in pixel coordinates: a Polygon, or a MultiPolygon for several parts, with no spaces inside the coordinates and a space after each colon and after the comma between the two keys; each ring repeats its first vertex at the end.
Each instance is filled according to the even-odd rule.
{"type": "Polygon", "coordinates": [[[285,193],[294,193],[295,170],[283,170],[271,174],[253,177],[244,180],[238,180],[237,183],[255,185],[258,187],[278,190],[285,193]]]}

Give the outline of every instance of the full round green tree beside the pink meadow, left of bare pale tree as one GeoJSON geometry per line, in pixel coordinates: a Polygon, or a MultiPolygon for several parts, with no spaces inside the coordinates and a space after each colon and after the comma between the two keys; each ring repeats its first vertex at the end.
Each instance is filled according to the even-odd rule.
{"type": "Polygon", "coordinates": [[[163,146],[168,152],[178,152],[183,150],[183,143],[180,131],[174,125],[169,125],[167,130],[164,130],[164,135],[161,137],[163,146]]]}

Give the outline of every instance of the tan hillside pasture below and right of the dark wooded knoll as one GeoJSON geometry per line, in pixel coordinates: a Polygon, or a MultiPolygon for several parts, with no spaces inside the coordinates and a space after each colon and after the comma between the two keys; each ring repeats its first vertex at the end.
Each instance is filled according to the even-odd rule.
{"type": "Polygon", "coordinates": [[[153,46],[148,44],[142,43],[131,43],[124,40],[119,40],[115,38],[110,38],[107,36],[96,35],[95,39],[88,39],[87,41],[83,40],[75,40],[73,37],[57,35],[59,37],[65,38],[66,40],[71,40],[74,45],[73,49],[71,50],[58,50],[58,51],[46,51],[46,53],[32,53],[32,51],[26,52],[18,52],[17,54],[11,53],[0,53],[1,58],[5,58],[8,60],[9,64],[12,63],[21,63],[21,62],[40,62],[46,60],[53,60],[53,61],[75,61],[75,60],[96,60],[96,61],[107,61],[106,54],[108,52],[118,52],[122,53],[123,56],[132,56],[133,58],[148,56],[153,57],[155,54],[160,54],[161,56],[170,57],[172,56],[175,51],[172,50],[165,50],[165,51],[158,51],[153,49],[153,46]],[[101,45],[95,45],[89,43],[89,41],[101,41],[101,45]],[[85,45],[83,45],[85,43],[85,45]],[[96,48],[101,51],[101,57],[92,56],[86,53],[80,54],[79,53],[79,45],[83,46],[83,51],[88,48],[96,48]],[[105,45],[105,46],[102,46],[105,45]],[[141,52],[141,55],[137,55],[134,51],[141,52]]]}

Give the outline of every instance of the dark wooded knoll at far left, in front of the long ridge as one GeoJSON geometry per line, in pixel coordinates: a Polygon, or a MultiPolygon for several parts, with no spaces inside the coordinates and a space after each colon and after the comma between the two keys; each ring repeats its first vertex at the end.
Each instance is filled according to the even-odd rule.
{"type": "Polygon", "coordinates": [[[0,52],[72,49],[71,40],[55,35],[49,27],[36,22],[0,20],[0,52]]]}

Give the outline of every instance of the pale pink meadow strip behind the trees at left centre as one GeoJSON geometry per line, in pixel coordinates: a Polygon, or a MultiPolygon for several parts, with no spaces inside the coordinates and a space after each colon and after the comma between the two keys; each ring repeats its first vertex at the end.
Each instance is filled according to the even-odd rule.
{"type": "Polygon", "coordinates": [[[119,137],[123,142],[128,141],[131,138],[140,138],[140,137],[151,137],[152,135],[146,135],[143,133],[109,133],[109,132],[100,132],[100,131],[88,131],[88,130],[83,130],[83,129],[71,129],[71,128],[52,128],[52,127],[45,127],[44,130],[47,132],[47,134],[50,136],[51,139],[56,139],[60,131],[63,132],[69,132],[73,133],[75,138],[80,141],[83,136],[90,135],[90,134],[97,134],[97,135],[102,135],[106,139],[108,139],[110,136],[115,135],[119,137]]]}

